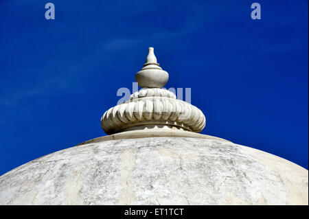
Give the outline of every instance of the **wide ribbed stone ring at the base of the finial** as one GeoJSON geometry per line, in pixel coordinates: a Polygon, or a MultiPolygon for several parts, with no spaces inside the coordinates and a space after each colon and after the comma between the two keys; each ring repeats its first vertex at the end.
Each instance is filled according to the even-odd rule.
{"type": "Polygon", "coordinates": [[[182,100],[146,96],[110,108],[102,116],[101,126],[109,135],[124,130],[164,127],[201,132],[205,116],[196,106],[182,100]]]}

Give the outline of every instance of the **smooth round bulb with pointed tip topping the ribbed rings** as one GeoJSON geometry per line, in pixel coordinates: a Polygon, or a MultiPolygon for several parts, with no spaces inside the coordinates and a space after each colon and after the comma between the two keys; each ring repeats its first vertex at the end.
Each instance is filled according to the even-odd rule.
{"type": "Polygon", "coordinates": [[[148,56],[144,68],[136,73],[135,80],[139,87],[142,88],[162,88],[168,82],[168,72],[163,71],[159,67],[153,47],[148,48],[148,56]]]}

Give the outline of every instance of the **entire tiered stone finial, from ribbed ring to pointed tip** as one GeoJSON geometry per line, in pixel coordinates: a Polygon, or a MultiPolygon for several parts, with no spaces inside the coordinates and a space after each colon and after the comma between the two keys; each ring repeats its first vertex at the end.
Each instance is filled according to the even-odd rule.
{"type": "Polygon", "coordinates": [[[143,89],[102,116],[101,126],[106,134],[145,129],[203,130],[205,116],[201,110],[161,89],[168,82],[168,72],[159,67],[152,47],[148,49],[146,63],[136,73],[135,80],[143,89]]]}

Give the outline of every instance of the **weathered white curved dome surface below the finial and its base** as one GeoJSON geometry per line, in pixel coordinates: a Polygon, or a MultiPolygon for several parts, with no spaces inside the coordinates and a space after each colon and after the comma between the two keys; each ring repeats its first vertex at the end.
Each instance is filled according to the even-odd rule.
{"type": "Polygon", "coordinates": [[[308,205],[308,170],[228,141],[118,139],[0,176],[0,205],[308,205]]]}

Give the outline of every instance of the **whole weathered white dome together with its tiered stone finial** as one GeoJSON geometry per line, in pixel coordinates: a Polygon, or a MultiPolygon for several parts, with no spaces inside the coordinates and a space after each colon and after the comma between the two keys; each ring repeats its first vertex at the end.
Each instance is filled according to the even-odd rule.
{"type": "Polygon", "coordinates": [[[108,134],[0,176],[0,205],[308,205],[308,170],[198,134],[203,112],[163,89],[149,48],[142,88],[101,118],[108,134]]]}

